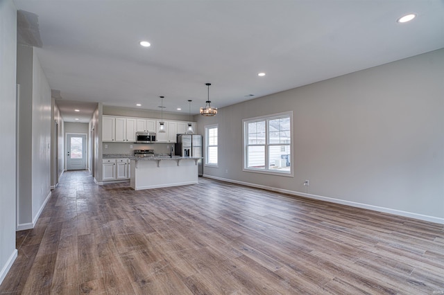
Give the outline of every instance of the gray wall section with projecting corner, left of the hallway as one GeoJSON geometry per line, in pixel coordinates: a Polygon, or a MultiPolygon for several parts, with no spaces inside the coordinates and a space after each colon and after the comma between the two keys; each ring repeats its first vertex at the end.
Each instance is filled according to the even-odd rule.
{"type": "Polygon", "coordinates": [[[51,89],[32,47],[17,46],[17,83],[17,229],[22,230],[35,226],[51,196],[51,89]]]}

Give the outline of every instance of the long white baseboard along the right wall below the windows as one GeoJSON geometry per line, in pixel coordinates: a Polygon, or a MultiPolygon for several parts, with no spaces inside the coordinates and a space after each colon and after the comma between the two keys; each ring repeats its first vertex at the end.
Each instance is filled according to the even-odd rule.
{"type": "Polygon", "coordinates": [[[296,195],[296,196],[299,196],[299,197],[307,197],[309,199],[318,199],[318,200],[321,200],[321,201],[331,202],[331,203],[335,203],[335,204],[342,204],[342,205],[347,205],[347,206],[352,206],[352,207],[357,207],[357,208],[364,208],[364,209],[368,209],[368,210],[371,210],[371,211],[378,211],[378,212],[389,213],[389,214],[393,214],[393,215],[400,215],[400,216],[404,216],[404,217],[410,217],[410,218],[414,218],[416,220],[424,220],[424,221],[427,221],[427,222],[435,222],[435,223],[438,223],[438,224],[444,224],[444,218],[441,218],[441,217],[422,215],[422,214],[419,214],[419,213],[400,211],[400,210],[392,209],[392,208],[385,208],[385,207],[379,207],[379,206],[374,206],[374,205],[369,205],[369,204],[362,204],[362,203],[357,203],[357,202],[345,201],[343,199],[335,199],[335,198],[332,198],[332,197],[324,197],[324,196],[320,196],[320,195],[311,195],[311,194],[307,194],[307,193],[296,192],[294,190],[284,190],[282,188],[273,188],[271,186],[262,186],[260,184],[250,184],[250,183],[244,182],[244,181],[237,181],[237,180],[226,179],[226,178],[222,178],[222,177],[214,177],[212,175],[203,175],[203,177],[207,177],[207,178],[211,178],[211,179],[216,179],[216,180],[220,180],[220,181],[231,182],[233,184],[241,184],[243,186],[251,186],[253,188],[262,188],[264,190],[271,190],[271,191],[277,192],[277,193],[284,193],[284,194],[288,194],[288,195],[296,195]]]}

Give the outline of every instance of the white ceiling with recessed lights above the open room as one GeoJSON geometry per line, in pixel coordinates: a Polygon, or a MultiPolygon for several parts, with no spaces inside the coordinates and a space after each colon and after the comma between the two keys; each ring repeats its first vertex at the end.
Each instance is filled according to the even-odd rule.
{"type": "MultiPolygon", "coordinates": [[[[76,101],[188,114],[444,48],[442,0],[15,0],[65,120],[76,101]],[[416,19],[398,24],[414,12],[416,19]],[[151,47],[139,46],[148,40],[151,47]],[[264,71],[264,77],[257,73],[264,71]],[[246,97],[254,94],[253,97],[246,97]],[[65,101],[66,102],[62,102],[65,101]]],[[[90,104],[85,104],[90,105],[90,104]]],[[[94,104],[93,104],[94,105],[94,104]]],[[[79,112],[80,113],[80,112],[79,112]]],[[[90,113],[76,117],[87,121],[90,113]],[[83,118],[82,116],[85,116],[83,118]]]]}

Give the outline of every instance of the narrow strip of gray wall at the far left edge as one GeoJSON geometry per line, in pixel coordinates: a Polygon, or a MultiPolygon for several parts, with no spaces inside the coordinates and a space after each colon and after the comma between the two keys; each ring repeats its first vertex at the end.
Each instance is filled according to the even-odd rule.
{"type": "Polygon", "coordinates": [[[12,1],[0,1],[0,283],[17,257],[16,226],[16,36],[12,1]]]}

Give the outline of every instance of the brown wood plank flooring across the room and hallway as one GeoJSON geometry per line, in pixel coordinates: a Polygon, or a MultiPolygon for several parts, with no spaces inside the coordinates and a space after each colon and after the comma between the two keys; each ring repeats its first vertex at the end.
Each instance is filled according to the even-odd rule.
{"type": "Polygon", "coordinates": [[[65,172],[0,294],[443,294],[444,226],[200,178],[65,172]]]}

